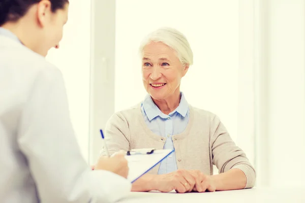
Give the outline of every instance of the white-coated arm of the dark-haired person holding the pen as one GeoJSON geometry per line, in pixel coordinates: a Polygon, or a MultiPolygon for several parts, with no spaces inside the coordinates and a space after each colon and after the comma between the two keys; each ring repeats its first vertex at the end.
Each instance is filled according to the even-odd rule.
{"type": "Polygon", "coordinates": [[[83,159],[57,69],[44,67],[24,102],[17,142],[42,202],[114,202],[130,191],[126,179],[92,171],[83,159]]]}

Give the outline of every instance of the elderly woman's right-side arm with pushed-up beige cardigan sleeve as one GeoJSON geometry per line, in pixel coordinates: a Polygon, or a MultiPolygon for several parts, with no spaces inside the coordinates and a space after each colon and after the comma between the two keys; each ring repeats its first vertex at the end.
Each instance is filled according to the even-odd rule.
{"type": "Polygon", "coordinates": [[[219,175],[211,176],[217,190],[252,188],[256,173],[245,152],[235,145],[225,126],[215,116],[211,121],[211,146],[213,163],[219,175]]]}

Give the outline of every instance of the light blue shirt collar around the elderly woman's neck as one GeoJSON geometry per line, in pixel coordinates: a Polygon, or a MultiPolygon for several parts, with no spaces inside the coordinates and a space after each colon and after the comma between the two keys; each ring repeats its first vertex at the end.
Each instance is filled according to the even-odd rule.
{"type": "MultiPolygon", "coordinates": [[[[165,115],[160,111],[160,109],[157,107],[157,105],[154,103],[153,99],[149,94],[147,94],[142,102],[145,114],[149,121],[153,120],[157,116],[160,116],[161,118],[167,118],[168,116],[165,115]]],[[[189,105],[188,101],[186,100],[184,93],[181,92],[181,99],[179,106],[171,112],[169,115],[174,114],[175,112],[179,113],[181,116],[185,117],[188,113],[189,105]]]]}

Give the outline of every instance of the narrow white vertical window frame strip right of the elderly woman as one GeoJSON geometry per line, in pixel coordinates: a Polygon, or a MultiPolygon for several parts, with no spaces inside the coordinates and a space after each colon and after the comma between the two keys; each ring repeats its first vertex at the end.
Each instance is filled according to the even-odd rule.
{"type": "Polygon", "coordinates": [[[255,162],[255,12],[254,1],[239,0],[237,144],[255,162]]]}

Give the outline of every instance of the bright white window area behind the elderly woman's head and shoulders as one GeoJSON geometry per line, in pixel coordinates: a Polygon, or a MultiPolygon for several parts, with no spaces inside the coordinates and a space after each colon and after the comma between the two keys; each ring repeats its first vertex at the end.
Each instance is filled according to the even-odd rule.
{"type": "Polygon", "coordinates": [[[160,26],[172,26],[186,35],[194,52],[194,65],[181,82],[187,100],[219,115],[254,162],[253,65],[243,60],[253,56],[247,46],[239,46],[249,39],[253,43],[245,30],[249,22],[241,20],[251,18],[249,10],[253,13],[252,5],[237,0],[117,0],[115,111],[139,103],[146,94],[138,56],[142,38],[160,26]]]}

